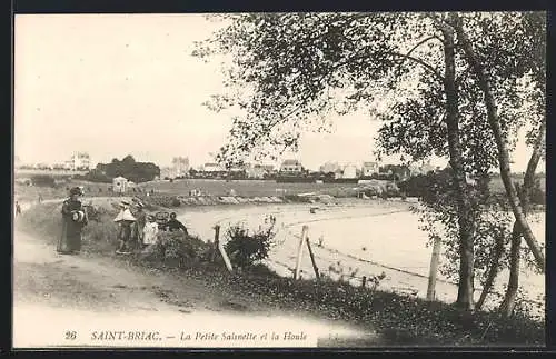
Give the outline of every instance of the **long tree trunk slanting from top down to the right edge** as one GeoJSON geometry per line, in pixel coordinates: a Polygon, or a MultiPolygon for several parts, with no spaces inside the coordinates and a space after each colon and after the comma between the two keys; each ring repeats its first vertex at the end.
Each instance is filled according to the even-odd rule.
{"type": "Polygon", "coordinates": [[[467,34],[464,31],[463,19],[457,14],[453,14],[453,20],[459,43],[461,44],[461,48],[466,54],[467,61],[469,62],[475,74],[477,76],[479,87],[485,96],[488,124],[490,127],[490,130],[493,131],[496,141],[496,147],[498,149],[498,163],[500,168],[500,177],[502,181],[504,182],[504,188],[506,190],[506,196],[508,197],[509,205],[512,206],[512,211],[514,212],[515,219],[520,227],[522,233],[525,238],[525,241],[527,242],[527,246],[529,246],[533,256],[535,257],[538,268],[544,271],[545,258],[543,251],[538,247],[538,243],[535,239],[535,235],[533,235],[529,223],[525,218],[525,213],[522,203],[519,201],[518,193],[514,185],[512,183],[512,171],[509,168],[509,151],[506,143],[506,139],[504,138],[504,134],[502,132],[500,121],[498,119],[498,114],[496,111],[496,101],[493,97],[493,93],[490,92],[488,78],[483,69],[481,63],[478,61],[475,51],[473,50],[473,46],[469,39],[467,38],[467,34]]]}

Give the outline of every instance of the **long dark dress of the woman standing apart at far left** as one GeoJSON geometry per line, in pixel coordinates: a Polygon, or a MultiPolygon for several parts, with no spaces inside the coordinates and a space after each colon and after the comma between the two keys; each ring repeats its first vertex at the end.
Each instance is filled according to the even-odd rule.
{"type": "Polygon", "coordinates": [[[58,246],[59,252],[78,252],[81,250],[81,231],[87,225],[87,217],[82,222],[75,221],[73,211],[85,211],[78,200],[67,199],[62,203],[62,235],[58,246]]]}

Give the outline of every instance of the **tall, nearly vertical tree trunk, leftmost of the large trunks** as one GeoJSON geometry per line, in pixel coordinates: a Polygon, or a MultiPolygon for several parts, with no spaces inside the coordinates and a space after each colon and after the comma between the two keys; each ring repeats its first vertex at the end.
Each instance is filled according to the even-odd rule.
{"type": "Polygon", "coordinates": [[[456,88],[456,61],[454,49],[454,30],[443,28],[446,93],[446,124],[448,129],[448,147],[450,167],[454,171],[456,201],[459,226],[459,283],[456,303],[465,309],[474,309],[474,222],[471,206],[467,192],[467,182],[461,159],[459,139],[458,93],[456,88]]]}

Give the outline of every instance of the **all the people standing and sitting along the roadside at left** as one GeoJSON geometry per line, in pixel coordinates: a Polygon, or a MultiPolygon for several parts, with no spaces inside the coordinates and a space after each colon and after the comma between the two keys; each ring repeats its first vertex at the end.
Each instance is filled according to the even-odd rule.
{"type": "MultiPolygon", "coordinates": [[[[70,189],[70,197],[62,203],[62,233],[57,251],[63,255],[79,253],[82,230],[88,225],[87,208],[81,203],[83,191],[79,187],[70,189]]],[[[120,211],[113,219],[118,225],[118,247],[116,253],[129,255],[133,250],[149,251],[157,242],[160,231],[181,230],[188,235],[186,226],[170,213],[167,221],[159,222],[153,215],[147,215],[145,206],[137,199],[121,201],[120,211]]]]}

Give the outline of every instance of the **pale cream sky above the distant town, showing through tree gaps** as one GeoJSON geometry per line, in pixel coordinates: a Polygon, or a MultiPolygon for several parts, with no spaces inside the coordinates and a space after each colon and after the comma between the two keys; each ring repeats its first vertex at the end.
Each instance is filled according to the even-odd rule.
{"type": "MultiPolygon", "coordinates": [[[[229,114],[202,106],[222,89],[220,63],[191,56],[193,41],[209,38],[218,22],[202,14],[18,14],[14,21],[14,154],[23,163],[61,163],[86,151],[93,166],[132,154],[161,167],[187,156],[197,167],[225,143],[229,114]]],[[[379,126],[365,114],[345,116],[332,133],[305,133],[299,152],[287,157],[310,169],[375,160],[379,126]]],[[[529,153],[518,144],[514,171],[525,170],[529,153]]]]}

